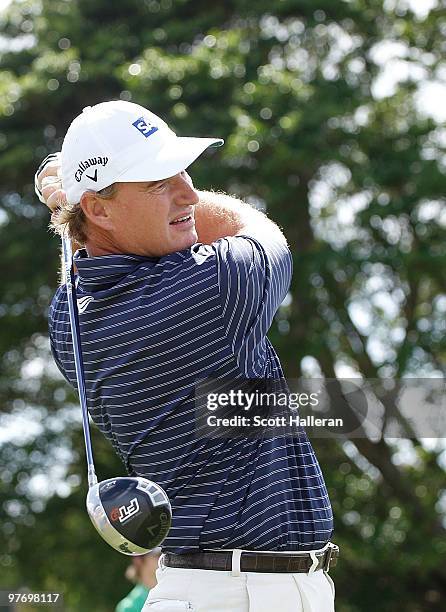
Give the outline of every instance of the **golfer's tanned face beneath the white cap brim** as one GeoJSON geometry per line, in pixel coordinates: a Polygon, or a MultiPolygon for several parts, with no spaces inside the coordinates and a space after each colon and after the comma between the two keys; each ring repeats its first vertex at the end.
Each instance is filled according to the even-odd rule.
{"type": "Polygon", "coordinates": [[[117,188],[105,201],[112,252],[161,257],[197,242],[194,207],[199,197],[187,172],[156,182],[117,183],[117,188]],[[188,219],[177,222],[183,217],[188,219]]]}

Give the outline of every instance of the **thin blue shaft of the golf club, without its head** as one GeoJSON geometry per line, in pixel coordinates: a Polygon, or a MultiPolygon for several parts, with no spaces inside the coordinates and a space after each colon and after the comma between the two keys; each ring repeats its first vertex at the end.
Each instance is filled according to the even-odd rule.
{"type": "Polygon", "coordinates": [[[65,234],[62,237],[62,252],[65,267],[65,284],[67,288],[68,312],[70,315],[71,337],[73,341],[74,364],[76,367],[77,388],[82,408],[82,426],[84,429],[85,450],[87,454],[88,486],[92,487],[98,481],[94,469],[93,450],[88,421],[87,393],[85,388],[84,364],[82,361],[81,338],[79,331],[79,313],[76,303],[76,286],[74,284],[74,267],[71,240],[65,234]]]}

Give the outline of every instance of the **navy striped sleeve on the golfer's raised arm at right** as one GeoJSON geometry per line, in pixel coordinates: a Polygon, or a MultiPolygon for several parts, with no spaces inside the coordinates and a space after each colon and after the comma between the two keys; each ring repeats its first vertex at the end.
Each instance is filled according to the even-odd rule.
{"type": "Polygon", "coordinates": [[[221,238],[215,255],[224,329],[248,377],[263,375],[266,334],[291,283],[292,256],[284,242],[251,236],[221,238]]]}

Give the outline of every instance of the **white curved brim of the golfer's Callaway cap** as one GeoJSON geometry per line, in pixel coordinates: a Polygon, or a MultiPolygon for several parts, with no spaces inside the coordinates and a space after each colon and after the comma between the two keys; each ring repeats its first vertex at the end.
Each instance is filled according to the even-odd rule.
{"type": "Polygon", "coordinates": [[[208,147],[220,147],[222,138],[175,137],[150,159],[141,159],[115,181],[134,183],[160,181],[186,170],[208,147]]]}

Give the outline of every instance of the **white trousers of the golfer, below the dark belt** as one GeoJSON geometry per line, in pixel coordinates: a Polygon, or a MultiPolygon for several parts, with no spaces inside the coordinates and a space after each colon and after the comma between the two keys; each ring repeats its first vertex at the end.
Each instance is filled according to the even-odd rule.
{"type": "Polygon", "coordinates": [[[166,567],[161,557],[143,612],[334,612],[334,584],[323,570],[240,572],[237,553],[232,572],[166,567]]]}

